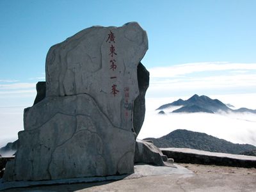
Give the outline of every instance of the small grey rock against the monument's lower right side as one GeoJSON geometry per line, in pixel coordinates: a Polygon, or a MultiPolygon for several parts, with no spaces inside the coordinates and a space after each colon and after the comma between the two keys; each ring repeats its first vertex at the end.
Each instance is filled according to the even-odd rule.
{"type": "Polygon", "coordinates": [[[173,159],[168,159],[152,142],[136,140],[134,163],[173,166],[173,159]]]}

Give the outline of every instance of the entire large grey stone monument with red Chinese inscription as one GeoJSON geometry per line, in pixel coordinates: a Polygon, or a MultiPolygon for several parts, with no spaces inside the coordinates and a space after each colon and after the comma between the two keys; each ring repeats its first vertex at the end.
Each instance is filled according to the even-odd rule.
{"type": "Polygon", "coordinates": [[[94,26],[52,46],[46,83],[38,84],[37,90],[43,88],[35,104],[24,109],[24,131],[4,180],[134,172],[148,86],[148,81],[142,83],[139,90],[138,74],[148,78],[140,63],[147,49],[147,34],[136,22],[120,28],[94,26]]]}

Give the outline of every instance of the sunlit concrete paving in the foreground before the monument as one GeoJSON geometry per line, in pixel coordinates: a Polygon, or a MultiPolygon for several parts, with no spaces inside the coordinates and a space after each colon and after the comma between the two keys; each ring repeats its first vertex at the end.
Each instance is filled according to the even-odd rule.
{"type": "MultiPolygon", "coordinates": [[[[255,168],[202,164],[179,164],[179,166],[188,168],[190,173],[158,175],[155,172],[156,175],[116,181],[36,186],[5,191],[256,191],[255,168]]],[[[147,169],[147,166],[145,168],[147,169]]],[[[158,171],[161,173],[163,170],[158,171]]],[[[151,171],[147,169],[145,172],[151,171]]]]}

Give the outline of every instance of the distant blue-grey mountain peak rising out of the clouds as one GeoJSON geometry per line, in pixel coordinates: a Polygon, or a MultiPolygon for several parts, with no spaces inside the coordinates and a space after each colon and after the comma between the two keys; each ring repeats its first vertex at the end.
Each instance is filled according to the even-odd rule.
{"type": "Polygon", "coordinates": [[[193,95],[188,100],[176,100],[169,104],[164,104],[163,106],[160,106],[156,110],[163,110],[168,109],[173,106],[181,106],[179,109],[176,109],[172,111],[172,113],[198,113],[198,112],[204,112],[204,113],[218,113],[220,111],[224,112],[235,112],[235,113],[256,113],[256,109],[247,109],[247,108],[240,108],[240,109],[231,109],[228,108],[226,104],[223,104],[218,99],[211,99],[210,97],[207,97],[205,95],[198,96],[193,95]]]}

